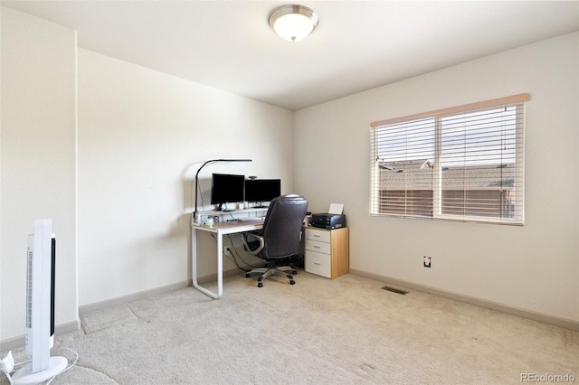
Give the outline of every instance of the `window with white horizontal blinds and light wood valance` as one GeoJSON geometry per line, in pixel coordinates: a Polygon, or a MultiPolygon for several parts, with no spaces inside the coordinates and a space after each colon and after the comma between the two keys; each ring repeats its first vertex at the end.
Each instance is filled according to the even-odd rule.
{"type": "Polygon", "coordinates": [[[523,224],[528,99],[372,123],[370,214],[523,224]]]}

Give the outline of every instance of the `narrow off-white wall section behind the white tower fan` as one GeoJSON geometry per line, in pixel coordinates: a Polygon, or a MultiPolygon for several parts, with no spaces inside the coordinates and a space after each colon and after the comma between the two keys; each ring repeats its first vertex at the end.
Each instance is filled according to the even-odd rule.
{"type": "Polygon", "coordinates": [[[0,6],[0,341],[24,335],[27,234],[52,219],[56,324],[78,323],[76,33],[0,6]]]}

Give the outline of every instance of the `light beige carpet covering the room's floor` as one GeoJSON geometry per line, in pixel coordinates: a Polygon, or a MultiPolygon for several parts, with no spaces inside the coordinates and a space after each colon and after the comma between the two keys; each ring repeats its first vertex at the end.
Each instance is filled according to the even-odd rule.
{"type": "Polygon", "coordinates": [[[187,287],[83,315],[52,350],[79,362],[52,384],[579,382],[579,332],[351,274],[295,278],[240,274],[219,300],[187,287]]]}

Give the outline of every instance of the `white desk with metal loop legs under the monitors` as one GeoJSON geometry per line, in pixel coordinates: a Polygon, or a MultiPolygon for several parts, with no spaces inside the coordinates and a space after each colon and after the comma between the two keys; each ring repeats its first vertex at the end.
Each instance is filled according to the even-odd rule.
{"type": "MultiPolygon", "coordinates": [[[[263,211],[263,209],[260,209],[260,211],[263,211]]],[[[267,211],[267,209],[265,209],[265,211],[267,211]]],[[[223,235],[260,230],[262,227],[262,221],[230,221],[215,223],[213,226],[201,226],[194,223],[193,214],[191,214],[191,277],[193,279],[193,286],[207,296],[215,299],[221,298],[221,296],[223,296],[223,235]],[[197,231],[208,231],[217,235],[217,294],[207,290],[197,282],[197,231]]]]}

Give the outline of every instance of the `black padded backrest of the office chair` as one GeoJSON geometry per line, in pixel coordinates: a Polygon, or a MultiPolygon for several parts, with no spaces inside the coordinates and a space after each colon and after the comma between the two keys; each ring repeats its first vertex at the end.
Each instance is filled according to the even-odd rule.
{"type": "Polygon", "coordinates": [[[263,221],[263,258],[285,258],[299,253],[299,234],[308,211],[308,201],[299,195],[273,199],[263,221]]]}

